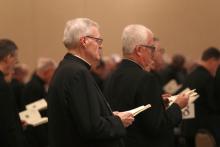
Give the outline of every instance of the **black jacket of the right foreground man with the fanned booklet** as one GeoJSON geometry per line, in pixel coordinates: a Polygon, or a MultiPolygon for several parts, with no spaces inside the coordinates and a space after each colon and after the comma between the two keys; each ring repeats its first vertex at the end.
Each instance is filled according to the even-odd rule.
{"type": "Polygon", "coordinates": [[[177,104],[165,110],[157,78],[137,63],[123,59],[107,79],[104,94],[113,110],[125,111],[141,105],[151,108],[138,114],[127,129],[126,147],[173,147],[173,128],[182,118],[177,104]]]}

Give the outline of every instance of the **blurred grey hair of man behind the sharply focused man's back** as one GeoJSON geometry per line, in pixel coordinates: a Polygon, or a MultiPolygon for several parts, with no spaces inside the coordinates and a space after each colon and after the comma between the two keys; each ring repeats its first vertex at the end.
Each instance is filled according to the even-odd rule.
{"type": "Polygon", "coordinates": [[[51,58],[41,57],[37,61],[37,71],[45,71],[49,68],[56,68],[56,62],[51,58]]]}

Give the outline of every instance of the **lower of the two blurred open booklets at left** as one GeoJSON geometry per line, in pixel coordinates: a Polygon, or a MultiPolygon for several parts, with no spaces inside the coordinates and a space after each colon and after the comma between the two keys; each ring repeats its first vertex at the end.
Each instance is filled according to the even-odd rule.
{"type": "Polygon", "coordinates": [[[19,113],[20,119],[27,124],[34,127],[45,124],[48,122],[47,117],[41,117],[40,113],[36,109],[28,109],[19,113]]]}

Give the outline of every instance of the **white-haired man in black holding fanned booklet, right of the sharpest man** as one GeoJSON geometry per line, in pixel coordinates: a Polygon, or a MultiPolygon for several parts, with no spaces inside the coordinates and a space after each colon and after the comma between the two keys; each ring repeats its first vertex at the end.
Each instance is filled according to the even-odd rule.
{"type": "Polygon", "coordinates": [[[127,147],[173,147],[173,127],[182,118],[188,97],[179,96],[167,110],[156,77],[147,72],[152,63],[153,33],[142,25],[128,25],[122,33],[124,59],[106,81],[104,94],[113,110],[141,105],[151,108],[136,116],[127,129],[127,147]]]}

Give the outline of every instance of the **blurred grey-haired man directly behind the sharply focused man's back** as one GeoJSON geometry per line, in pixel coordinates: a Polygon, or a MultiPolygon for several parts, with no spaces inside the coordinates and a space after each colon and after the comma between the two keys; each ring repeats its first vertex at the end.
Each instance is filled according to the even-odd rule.
{"type": "MultiPolygon", "coordinates": [[[[39,99],[47,100],[47,87],[56,68],[55,62],[50,58],[39,58],[37,68],[31,80],[25,85],[23,92],[23,104],[27,105],[39,99]]],[[[47,116],[47,110],[40,112],[41,116],[47,116]]],[[[26,130],[27,138],[33,147],[48,146],[48,124],[37,127],[29,127],[26,130]]]]}

